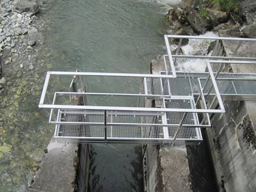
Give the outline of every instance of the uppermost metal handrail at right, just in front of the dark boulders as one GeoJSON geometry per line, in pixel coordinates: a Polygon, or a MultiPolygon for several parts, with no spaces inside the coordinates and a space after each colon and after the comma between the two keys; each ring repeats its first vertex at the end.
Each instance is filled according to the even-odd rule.
{"type": "Polygon", "coordinates": [[[230,40],[230,41],[256,41],[255,38],[238,38],[238,37],[207,37],[207,36],[184,36],[184,35],[165,35],[168,38],[189,38],[196,40],[230,40]]]}

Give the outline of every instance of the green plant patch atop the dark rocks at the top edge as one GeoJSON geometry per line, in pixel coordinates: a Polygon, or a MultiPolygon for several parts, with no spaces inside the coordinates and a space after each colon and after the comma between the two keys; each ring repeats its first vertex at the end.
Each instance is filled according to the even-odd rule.
{"type": "Polygon", "coordinates": [[[221,11],[234,12],[238,9],[238,0],[211,0],[213,6],[221,11]]]}

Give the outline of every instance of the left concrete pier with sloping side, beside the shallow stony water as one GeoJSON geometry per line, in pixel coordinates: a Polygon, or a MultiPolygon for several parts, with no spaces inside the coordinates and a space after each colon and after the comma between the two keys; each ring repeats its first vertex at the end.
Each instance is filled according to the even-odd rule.
{"type": "Polygon", "coordinates": [[[53,139],[29,191],[73,192],[76,189],[77,144],[61,144],[53,139]]]}

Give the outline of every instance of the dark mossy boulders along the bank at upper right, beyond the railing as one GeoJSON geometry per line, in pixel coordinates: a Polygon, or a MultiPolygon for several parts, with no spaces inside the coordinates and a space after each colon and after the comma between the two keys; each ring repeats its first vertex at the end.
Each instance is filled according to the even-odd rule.
{"type": "MultiPolygon", "coordinates": [[[[232,0],[186,0],[170,8],[166,18],[170,24],[169,35],[200,35],[213,31],[221,36],[256,38],[256,2],[232,0]],[[225,2],[225,1],[224,1],[225,2]]],[[[184,42],[186,43],[186,42],[184,42]]]]}

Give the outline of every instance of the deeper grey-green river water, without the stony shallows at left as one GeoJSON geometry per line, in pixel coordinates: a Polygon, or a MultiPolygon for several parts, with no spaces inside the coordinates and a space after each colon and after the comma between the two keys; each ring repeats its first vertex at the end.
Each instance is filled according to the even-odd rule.
{"type": "MultiPolygon", "coordinates": [[[[50,0],[46,9],[52,21],[46,44],[55,70],[147,73],[152,58],[164,52],[160,30],[167,27],[167,9],[157,2],[50,0]]],[[[104,86],[132,91],[139,82],[104,86]]],[[[91,154],[91,192],[143,191],[141,146],[93,144],[91,154]]]]}

